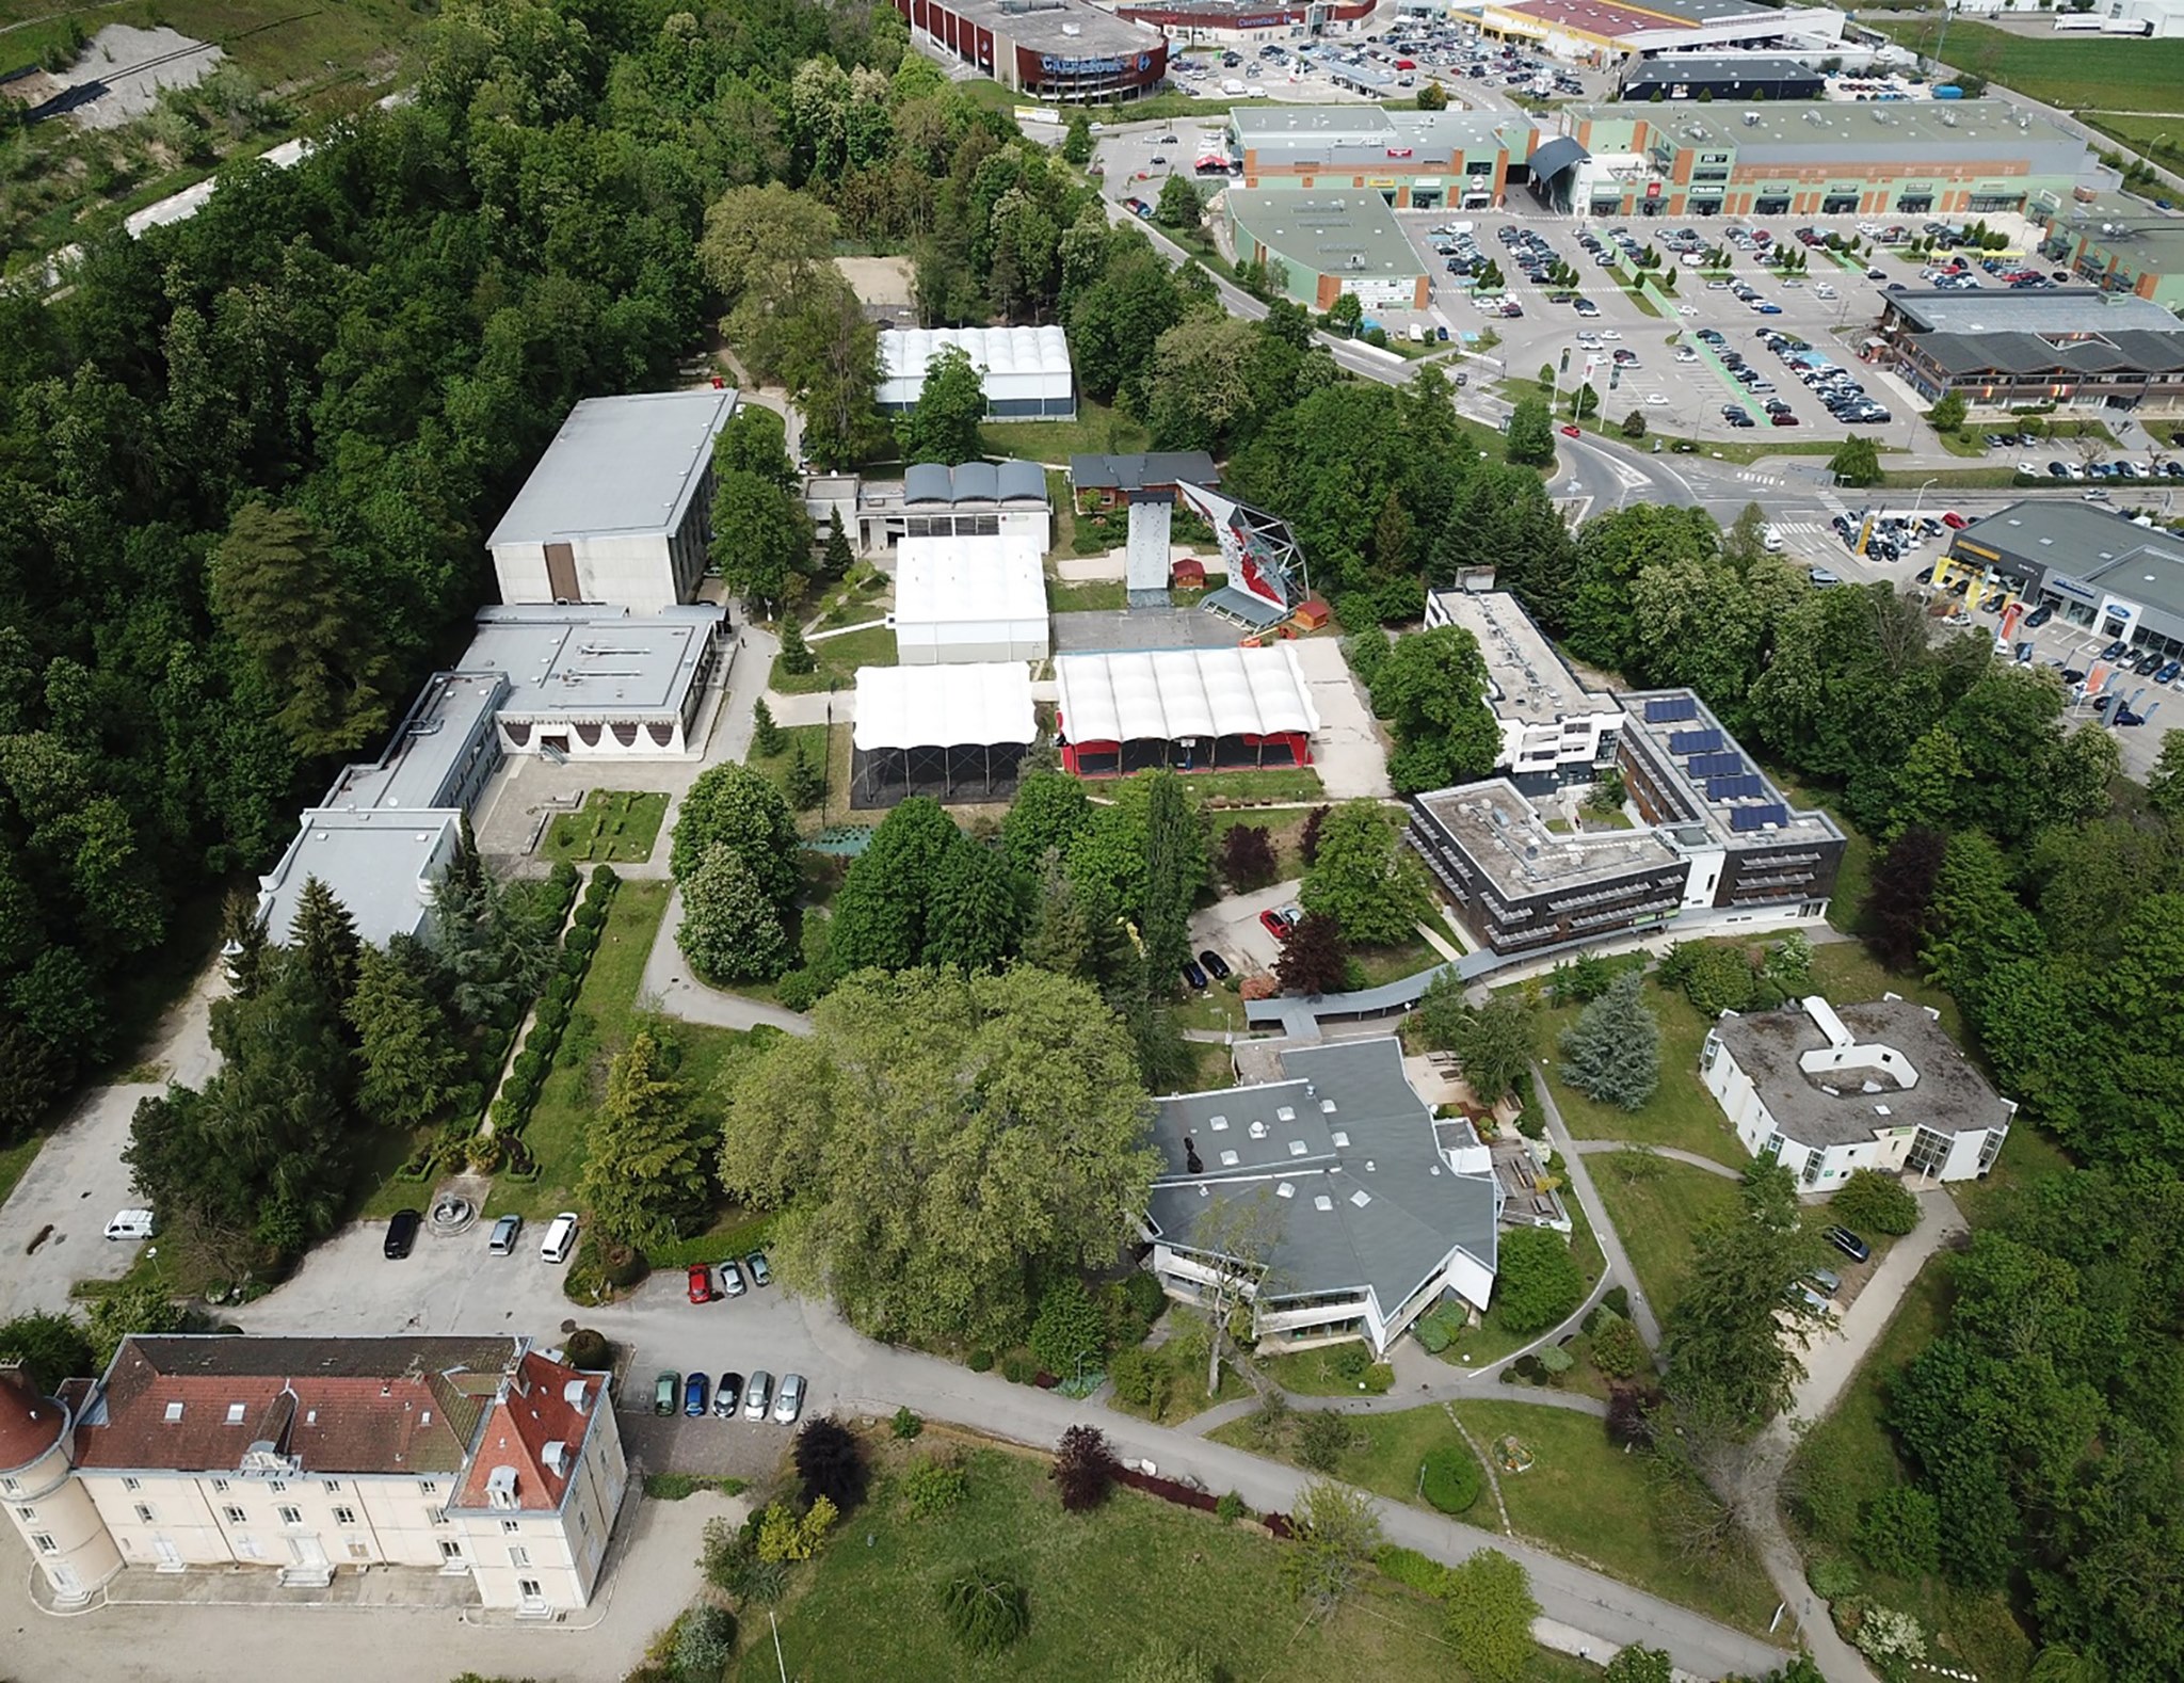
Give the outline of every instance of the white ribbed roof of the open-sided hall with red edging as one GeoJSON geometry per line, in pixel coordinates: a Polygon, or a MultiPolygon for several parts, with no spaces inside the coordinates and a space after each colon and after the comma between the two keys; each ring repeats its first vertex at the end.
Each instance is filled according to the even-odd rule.
{"type": "Polygon", "coordinates": [[[1059,655],[1070,742],[1177,742],[1190,736],[1317,731],[1319,709],[1289,644],[1059,655]]]}

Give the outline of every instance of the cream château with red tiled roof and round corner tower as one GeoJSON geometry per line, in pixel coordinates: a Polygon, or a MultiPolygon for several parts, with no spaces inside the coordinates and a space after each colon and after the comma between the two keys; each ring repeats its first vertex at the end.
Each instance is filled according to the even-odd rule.
{"type": "Polygon", "coordinates": [[[406,1572],[553,1618],[629,1489],[607,1386],[511,1336],[133,1336],[59,1397],[0,1366],[0,1502],[55,1609],[129,1572],[256,1572],[275,1607],[406,1572]]]}

